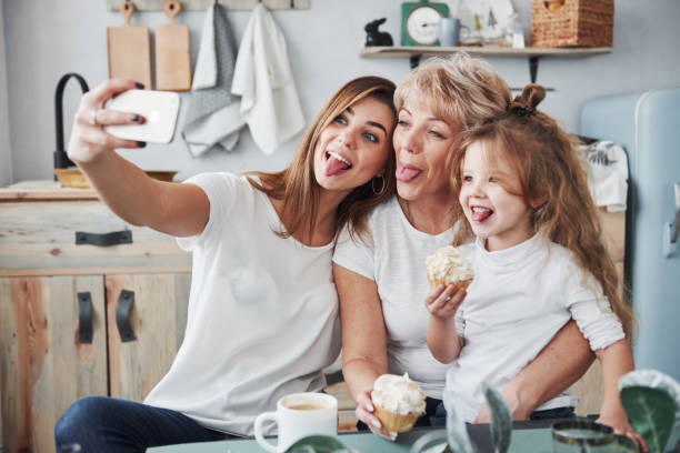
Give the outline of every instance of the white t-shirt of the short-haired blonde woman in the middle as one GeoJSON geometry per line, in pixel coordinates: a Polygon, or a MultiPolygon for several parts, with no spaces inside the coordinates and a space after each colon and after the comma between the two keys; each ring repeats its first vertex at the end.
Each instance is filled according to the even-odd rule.
{"type": "Polygon", "coordinates": [[[432,356],[426,342],[429,312],[423,301],[430,291],[426,259],[450,244],[456,230],[437,235],[417,230],[396,197],[371,212],[368,230],[373,246],[350,238],[347,229],[342,231],[333,261],[378,285],[389,372],[408,372],[428,396],[441,399],[448,365],[432,356]]]}

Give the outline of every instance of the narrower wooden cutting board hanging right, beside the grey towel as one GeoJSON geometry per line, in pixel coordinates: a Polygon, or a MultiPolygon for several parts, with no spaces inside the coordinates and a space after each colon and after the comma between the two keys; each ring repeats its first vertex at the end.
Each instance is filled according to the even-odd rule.
{"type": "Polygon", "coordinates": [[[174,23],[181,6],[167,0],[163,11],[170,23],[156,28],[156,89],[189,91],[191,89],[191,56],[189,27],[174,23]]]}

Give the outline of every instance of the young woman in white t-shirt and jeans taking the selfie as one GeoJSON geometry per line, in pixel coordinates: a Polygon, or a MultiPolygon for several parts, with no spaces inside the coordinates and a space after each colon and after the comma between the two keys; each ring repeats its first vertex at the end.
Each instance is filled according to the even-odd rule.
{"type": "Polygon", "coordinates": [[[131,88],[110,80],[83,97],[69,157],[120,218],[193,252],[186,335],[144,404],[76,402],[57,423],[58,449],[143,452],[248,435],[280,396],[322,389],[321,370],[340,350],[336,234],[348,222],[360,226],[394,188],[394,85],[386,79],[340,88],[286,170],[204,173],[181,184],[152,180],[113,151],[140,147],[103,131],[143,121],[103,110],[131,88]]]}

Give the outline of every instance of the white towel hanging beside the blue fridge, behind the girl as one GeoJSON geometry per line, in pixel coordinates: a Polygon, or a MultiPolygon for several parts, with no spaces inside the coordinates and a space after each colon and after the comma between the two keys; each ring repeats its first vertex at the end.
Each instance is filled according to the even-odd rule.
{"type": "Polygon", "coordinates": [[[628,197],[628,157],[611,141],[581,145],[590,163],[590,193],[598,207],[609,212],[626,211],[628,197]]]}

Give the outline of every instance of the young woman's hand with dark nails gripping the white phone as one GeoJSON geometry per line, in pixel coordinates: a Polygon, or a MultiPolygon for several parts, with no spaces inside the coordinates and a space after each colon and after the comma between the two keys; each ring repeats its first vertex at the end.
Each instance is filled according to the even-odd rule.
{"type": "Polygon", "coordinates": [[[116,148],[142,148],[146,143],[124,140],[104,131],[106,125],[143,124],[146,118],[131,112],[104,109],[108,100],[141,85],[132,80],[110,79],[87,92],[76,113],[68,154],[73,162],[90,162],[116,148]]]}

